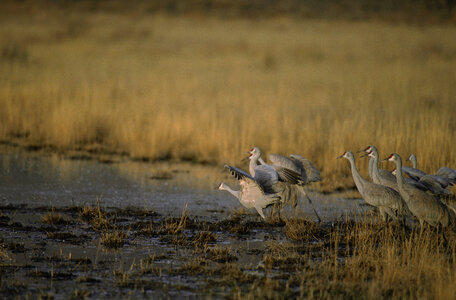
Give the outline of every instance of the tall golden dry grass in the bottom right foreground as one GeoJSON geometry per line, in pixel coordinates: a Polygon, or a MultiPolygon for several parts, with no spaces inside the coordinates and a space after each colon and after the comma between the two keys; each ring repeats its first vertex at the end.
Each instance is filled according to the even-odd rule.
{"type": "Polygon", "coordinates": [[[236,299],[400,298],[453,299],[456,295],[456,240],[434,229],[404,230],[390,224],[378,231],[376,218],[336,224],[315,251],[312,243],[270,242],[268,272],[236,299]],[[278,270],[288,276],[276,276],[278,270]]]}

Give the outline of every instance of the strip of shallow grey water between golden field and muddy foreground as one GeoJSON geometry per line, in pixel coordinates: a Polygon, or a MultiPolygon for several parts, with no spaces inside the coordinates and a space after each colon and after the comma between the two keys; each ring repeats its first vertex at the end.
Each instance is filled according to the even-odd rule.
{"type": "MultiPolygon", "coordinates": [[[[216,220],[241,207],[229,193],[215,189],[222,180],[237,186],[223,167],[127,159],[105,164],[6,146],[0,151],[1,205],[66,207],[99,201],[102,207],[141,207],[178,216],[187,204],[189,215],[216,220]],[[152,179],[163,173],[168,179],[152,179]]],[[[309,195],[325,221],[365,210],[360,200],[312,191],[309,195]]],[[[307,201],[300,200],[299,211],[313,219],[307,201]]],[[[287,213],[294,212],[285,210],[284,215],[287,213]]]]}

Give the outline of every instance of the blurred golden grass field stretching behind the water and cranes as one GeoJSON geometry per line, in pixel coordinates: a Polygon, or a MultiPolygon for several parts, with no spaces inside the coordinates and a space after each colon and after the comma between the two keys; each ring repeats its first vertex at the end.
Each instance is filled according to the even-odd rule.
{"type": "Polygon", "coordinates": [[[455,36],[448,24],[6,14],[0,139],[220,165],[256,145],[309,158],[326,190],[353,184],[336,156],[369,144],[455,168],[455,36]]]}

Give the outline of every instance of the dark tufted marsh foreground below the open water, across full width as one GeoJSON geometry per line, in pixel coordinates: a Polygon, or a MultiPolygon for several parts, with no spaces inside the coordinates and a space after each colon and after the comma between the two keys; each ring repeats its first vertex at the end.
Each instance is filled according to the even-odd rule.
{"type": "MultiPolygon", "coordinates": [[[[26,212],[36,213],[27,207],[14,209],[8,213],[11,224],[21,223],[26,212]]],[[[41,210],[44,215],[50,211],[41,210]]],[[[0,238],[0,297],[366,298],[375,284],[381,297],[420,298],[407,288],[419,278],[404,270],[423,263],[433,272],[434,265],[445,260],[453,266],[456,251],[451,231],[445,231],[445,242],[441,231],[383,226],[375,215],[323,224],[271,224],[247,214],[201,221],[185,209],[177,218],[99,205],[51,212],[74,221],[54,225],[53,220],[46,224],[52,231],[2,227],[12,236],[0,238]],[[405,258],[403,253],[414,254],[405,258]],[[426,253],[438,259],[428,264],[426,253]],[[378,276],[384,272],[398,276],[398,283],[382,283],[386,277],[378,276]],[[49,288],[49,282],[56,288],[49,288]]],[[[434,275],[422,276],[432,286],[434,275]]]]}

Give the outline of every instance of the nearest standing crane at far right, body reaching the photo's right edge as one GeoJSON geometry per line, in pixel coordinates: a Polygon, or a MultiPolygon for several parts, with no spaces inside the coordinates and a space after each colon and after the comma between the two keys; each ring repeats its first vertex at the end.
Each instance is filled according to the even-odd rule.
{"type": "Polygon", "coordinates": [[[410,211],[417,217],[421,228],[424,222],[431,226],[447,227],[454,223],[455,214],[432,195],[404,183],[402,176],[402,159],[393,153],[385,160],[396,163],[396,180],[399,193],[404,198],[410,211]]]}

